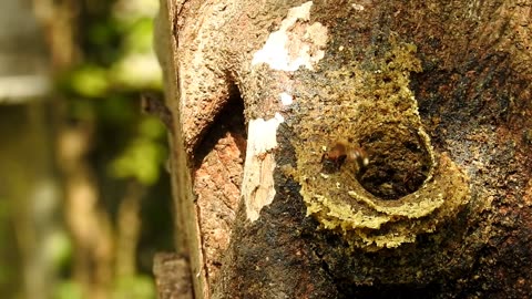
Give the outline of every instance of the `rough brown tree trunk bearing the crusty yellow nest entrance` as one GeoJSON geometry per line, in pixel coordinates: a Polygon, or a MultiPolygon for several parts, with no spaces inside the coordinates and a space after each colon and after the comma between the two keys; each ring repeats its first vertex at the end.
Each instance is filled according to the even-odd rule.
{"type": "Polygon", "coordinates": [[[195,298],[531,296],[531,20],[518,0],[163,0],[195,298]]]}

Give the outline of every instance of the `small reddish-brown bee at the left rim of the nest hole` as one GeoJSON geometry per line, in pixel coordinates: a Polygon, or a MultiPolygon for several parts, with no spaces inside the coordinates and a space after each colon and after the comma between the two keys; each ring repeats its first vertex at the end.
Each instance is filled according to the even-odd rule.
{"type": "Polygon", "coordinates": [[[321,156],[321,164],[325,173],[336,173],[340,171],[341,165],[346,162],[357,164],[360,172],[369,164],[369,157],[366,151],[358,145],[354,145],[347,141],[337,141],[327,153],[321,156]]]}

